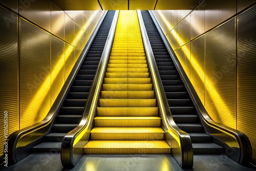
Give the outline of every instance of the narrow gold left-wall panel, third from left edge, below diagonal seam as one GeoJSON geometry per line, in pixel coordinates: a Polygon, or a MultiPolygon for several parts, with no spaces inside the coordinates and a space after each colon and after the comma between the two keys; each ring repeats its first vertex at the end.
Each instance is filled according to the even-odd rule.
{"type": "Polygon", "coordinates": [[[65,43],[51,36],[51,105],[65,83],[65,43]]]}

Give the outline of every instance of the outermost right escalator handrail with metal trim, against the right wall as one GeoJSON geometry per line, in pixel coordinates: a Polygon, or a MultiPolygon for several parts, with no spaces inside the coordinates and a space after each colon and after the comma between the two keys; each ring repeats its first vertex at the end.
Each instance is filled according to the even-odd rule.
{"type": "Polygon", "coordinates": [[[193,103],[195,104],[196,110],[198,111],[200,120],[204,126],[205,131],[215,138],[215,143],[218,143],[219,145],[224,146],[226,148],[226,155],[230,159],[236,161],[239,164],[246,165],[247,163],[250,162],[252,156],[252,147],[248,137],[244,133],[238,130],[234,130],[223,124],[217,123],[210,118],[197,92],[195,91],[193,85],[191,84],[185,71],[183,70],[175,52],[170,47],[168,40],[163,34],[161,27],[159,26],[156,20],[155,15],[153,14],[152,11],[149,12],[164,41],[168,53],[172,57],[174,64],[178,69],[179,74],[181,75],[181,79],[184,82],[186,89],[188,90],[188,93],[193,103]]]}

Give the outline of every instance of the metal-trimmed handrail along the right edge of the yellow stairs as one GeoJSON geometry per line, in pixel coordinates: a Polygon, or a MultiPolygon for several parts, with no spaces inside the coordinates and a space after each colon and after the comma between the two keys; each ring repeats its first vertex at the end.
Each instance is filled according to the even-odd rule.
{"type": "Polygon", "coordinates": [[[150,40],[147,37],[144,22],[141,16],[141,11],[137,10],[141,35],[145,48],[145,54],[150,67],[153,78],[154,88],[159,103],[159,111],[163,120],[162,128],[165,131],[165,140],[172,147],[172,154],[182,168],[193,167],[193,150],[189,135],[179,129],[173,120],[172,113],[169,109],[169,104],[163,89],[161,77],[157,68],[154,54],[150,45],[150,40]]]}

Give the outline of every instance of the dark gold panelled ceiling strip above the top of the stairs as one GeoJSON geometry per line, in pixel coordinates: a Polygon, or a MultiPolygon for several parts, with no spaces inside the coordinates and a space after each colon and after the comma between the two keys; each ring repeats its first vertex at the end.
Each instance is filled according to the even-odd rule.
{"type": "Polygon", "coordinates": [[[203,0],[52,0],[62,10],[191,10],[203,0]]]}

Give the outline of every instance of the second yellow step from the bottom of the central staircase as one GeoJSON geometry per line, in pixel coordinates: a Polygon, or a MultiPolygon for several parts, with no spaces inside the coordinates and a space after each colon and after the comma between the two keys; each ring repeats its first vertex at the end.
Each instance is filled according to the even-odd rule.
{"type": "Polygon", "coordinates": [[[164,140],[161,127],[94,127],[92,140],[164,140]]]}

